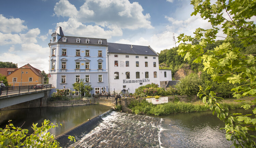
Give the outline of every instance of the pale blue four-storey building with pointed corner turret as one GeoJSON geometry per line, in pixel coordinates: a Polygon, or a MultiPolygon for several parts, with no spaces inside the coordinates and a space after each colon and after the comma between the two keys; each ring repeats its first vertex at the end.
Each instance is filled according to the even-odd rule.
{"type": "MultiPolygon", "coordinates": [[[[48,44],[49,84],[56,89],[73,89],[84,79],[91,94],[108,92],[108,43],[106,39],[65,36],[61,27],[51,35],[48,44]]],[[[78,94],[78,91],[76,91],[78,94]]]]}

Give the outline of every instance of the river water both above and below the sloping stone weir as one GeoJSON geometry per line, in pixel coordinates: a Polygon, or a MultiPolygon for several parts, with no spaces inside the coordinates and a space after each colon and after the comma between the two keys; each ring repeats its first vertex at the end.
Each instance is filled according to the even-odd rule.
{"type": "MultiPolygon", "coordinates": [[[[32,122],[49,119],[63,126],[51,131],[62,134],[110,109],[105,105],[84,105],[70,107],[44,107],[30,109],[2,110],[2,115],[12,119],[15,126],[23,124],[29,128],[32,122]]],[[[243,109],[233,113],[250,113],[243,109]]],[[[145,116],[112,112],[92,131],[82,135],[72,147],[230,147],[225,138],[225,124],[211,111],[177,113],[168,116],[145,116]]]]}

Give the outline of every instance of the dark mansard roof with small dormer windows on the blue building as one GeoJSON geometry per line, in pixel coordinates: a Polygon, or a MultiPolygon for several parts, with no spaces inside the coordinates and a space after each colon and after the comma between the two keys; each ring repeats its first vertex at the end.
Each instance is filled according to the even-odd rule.
{"type": "Polygon", "coordinates": [[[84,37],[77,37],[77,36],[62,36],[58,43],[73,43],[73,44],[88,44],[88,45],[103,45],[103,46],[107,46],[108,42],[106,39],[97,39],[97,38],[84,38],[84,37]],[[63,42],[62,39],[63,38],[67,38],[67,42],[63,42]],[[80,39],[80,43],[76,43],[76,39],[79,38],[80,39]],[[86,43],[85,40],[89,39],[90,42],[86,43]],[[101,40],[102,43],[98,44],[98,41],[101,40]]]}

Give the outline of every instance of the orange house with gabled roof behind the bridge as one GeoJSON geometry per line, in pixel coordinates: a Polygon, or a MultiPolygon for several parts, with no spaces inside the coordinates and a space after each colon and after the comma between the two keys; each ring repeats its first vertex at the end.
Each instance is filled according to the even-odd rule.
{"type": "Polygon", "coordinates": [[[44,76],[41,71],[26,64],[13,73],[6,76],[8,84],[11,86],[37,85],[44,82],[44,76]]]}

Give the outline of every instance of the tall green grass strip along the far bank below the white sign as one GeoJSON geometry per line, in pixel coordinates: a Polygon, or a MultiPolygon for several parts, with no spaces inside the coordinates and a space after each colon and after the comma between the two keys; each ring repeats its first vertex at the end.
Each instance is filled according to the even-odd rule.
{"type": "MultiPolygon", "coordinates": [[[[243,98],[244,102],[235,102],[236,99],[227,99],[221,102],[222,105],[226,106],[228,109],[237,109],[241,108],[241,105],[244,102],[249,102],[250,98],[243,98]]],[[[128,105],[128,108],[131,109],[131,113],[134,114],[146,114],[146,115],[170,115],[173,113],[189,113],[189,112],[201,112],[204,110],[209,110],[209,107],[206,107],[202,100],[198,100],[193,103],[173,101],[164,104],[154,105],[148,103],[145,99],[142,101],[132,100],[128,105]]]]}

